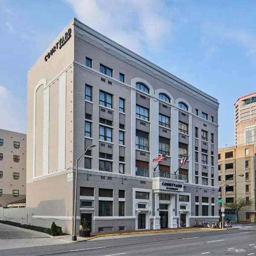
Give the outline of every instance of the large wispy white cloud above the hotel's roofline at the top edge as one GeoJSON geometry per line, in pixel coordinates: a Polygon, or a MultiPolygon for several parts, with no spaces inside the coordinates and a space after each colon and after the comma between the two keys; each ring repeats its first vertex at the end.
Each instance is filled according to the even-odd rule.
{"type": "Polygon", "coordinates": [[[165,0],[66,0],[86,25],[135,52],[160,49],[170,38],[170,17],[180,15],[165,0]]]}

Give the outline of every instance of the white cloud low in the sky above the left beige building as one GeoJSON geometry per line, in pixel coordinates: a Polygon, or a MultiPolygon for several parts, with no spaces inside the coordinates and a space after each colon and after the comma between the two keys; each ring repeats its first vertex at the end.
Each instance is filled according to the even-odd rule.
{"type": "Polygon", "coordinates": [[[6,88],[0,85],[0,128],[26,132],[26,106],[6,88]]]}

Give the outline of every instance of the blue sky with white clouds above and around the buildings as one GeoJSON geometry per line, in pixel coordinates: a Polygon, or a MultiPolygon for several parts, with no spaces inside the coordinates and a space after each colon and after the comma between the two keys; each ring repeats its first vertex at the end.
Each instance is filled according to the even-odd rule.
{"type": "Polygon", "coordinates": [[[218,99],[219,148],[233,104],[256,91],[252,0],[0,0],[0,128],[26,132],[27,71],[77,17],[218,99]]]}

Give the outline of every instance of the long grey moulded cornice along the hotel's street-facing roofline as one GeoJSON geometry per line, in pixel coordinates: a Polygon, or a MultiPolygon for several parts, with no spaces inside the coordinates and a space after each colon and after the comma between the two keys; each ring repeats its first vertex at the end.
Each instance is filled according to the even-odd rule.
{"type": "Polygon", "coordinates": [[[113,55],[114,57],[119,58],[120,60],[130,64],[131,66],[136,67],[137,69],[149,74],[150,76],[153,76],[156,79],[166,84],[169,84],[172,87],[175,87],[177,90],[186,93],[188,96],[192,96],[195,99],[211,106],[212,108],[218,109],[218,100],[213,98],[212,96],[207,95],[206,93],[195,88],[191,84],[186,83],[185,81],[177,78],[171,73],[168,73],[166,70],[157,67],[150,61],[147,61],[146,59],[135,54],[134,52],[131,52],[130,50],[122,47],[121,45],[115,43],[109,38],[106,38],[95,30],[84,25],[79,20],[75,19],[74,23],[77,27],[87,32],[87,35],[83,35],[79,33],[76,29],[74,29],[74,35],[77,38],[80,38],[81,40],[86,41],[87,43],[92,44],[99,49],[102,49],[108,54],[113,55]],[[99,40],[96,41],[94,38],[98,38],[99,40]],[[105,46],[105,44],[108,45],[105,46]]]}

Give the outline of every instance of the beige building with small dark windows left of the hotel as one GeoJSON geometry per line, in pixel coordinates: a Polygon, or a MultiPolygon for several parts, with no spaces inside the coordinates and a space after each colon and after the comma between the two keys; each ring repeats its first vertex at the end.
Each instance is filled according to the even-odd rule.
{"type": "Polygon", "coordinates": [[[26,198],[26,134],[0,130],[0,207],[26,198]]]}

